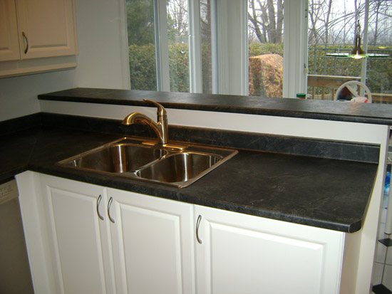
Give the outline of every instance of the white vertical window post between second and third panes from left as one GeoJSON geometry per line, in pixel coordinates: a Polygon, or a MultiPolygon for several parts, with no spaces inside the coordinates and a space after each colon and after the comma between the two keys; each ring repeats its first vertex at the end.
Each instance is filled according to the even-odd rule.
{"type": "Polygon", "coordinates": [[[188,0],[190,93],[202,93],[202,41],[200,36],[200,1],[188,0]]]}

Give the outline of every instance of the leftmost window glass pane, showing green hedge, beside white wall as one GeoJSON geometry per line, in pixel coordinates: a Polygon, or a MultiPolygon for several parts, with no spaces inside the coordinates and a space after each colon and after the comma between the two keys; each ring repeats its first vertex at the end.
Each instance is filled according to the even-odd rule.
{"type": "Polygon", "coordinates": [[[153,0],[126,0],[130,88],[157,90],[153,0]]]}

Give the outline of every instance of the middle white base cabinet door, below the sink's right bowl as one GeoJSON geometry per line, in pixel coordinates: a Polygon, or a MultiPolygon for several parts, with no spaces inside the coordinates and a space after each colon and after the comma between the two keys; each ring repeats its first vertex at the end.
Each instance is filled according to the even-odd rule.
{"type": "Polygon", "coordinates": [[[195,293],[192,205],[108,189],[118,293],[195,293]]]}

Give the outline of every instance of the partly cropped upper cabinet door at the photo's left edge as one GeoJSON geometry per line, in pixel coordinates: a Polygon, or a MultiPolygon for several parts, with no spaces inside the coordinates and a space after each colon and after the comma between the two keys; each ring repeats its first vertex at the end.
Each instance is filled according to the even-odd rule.
{"type": "Polygon", "coordinates": [[[0,61],[20,58],[15,0],[0,1],[0,61]]]}

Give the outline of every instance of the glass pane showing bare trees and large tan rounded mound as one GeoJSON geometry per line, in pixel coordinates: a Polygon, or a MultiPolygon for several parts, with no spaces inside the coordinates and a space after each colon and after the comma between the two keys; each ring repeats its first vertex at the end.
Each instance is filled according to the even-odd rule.
{"type": "Polygon", "coordinates": [[[249,95],[283,95],[283,0],[248,0],[249,95]]]}

